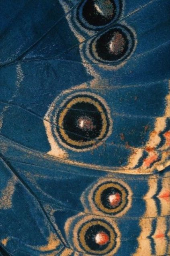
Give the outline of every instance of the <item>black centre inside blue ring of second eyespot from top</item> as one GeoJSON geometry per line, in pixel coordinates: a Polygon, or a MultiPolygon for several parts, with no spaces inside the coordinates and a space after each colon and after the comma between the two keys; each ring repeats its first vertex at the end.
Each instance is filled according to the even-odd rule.
{"type": "Polygon", "coordinates": [[[115,28],[110,29],[98,38],[96,52],[102,60],[117,61],[126,54],[128,46],[126,34],[121,29],[115,28]]]}

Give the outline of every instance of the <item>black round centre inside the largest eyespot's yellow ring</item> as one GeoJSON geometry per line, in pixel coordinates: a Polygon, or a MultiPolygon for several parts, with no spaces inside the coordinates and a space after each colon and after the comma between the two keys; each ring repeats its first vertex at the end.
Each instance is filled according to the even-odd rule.
{"type": "Polygon", "coordinates": [[[93,104],[76,103],[66,113],[63,128],[74,141],[90,141],[100,135],[101,113],[93,104]]]}

